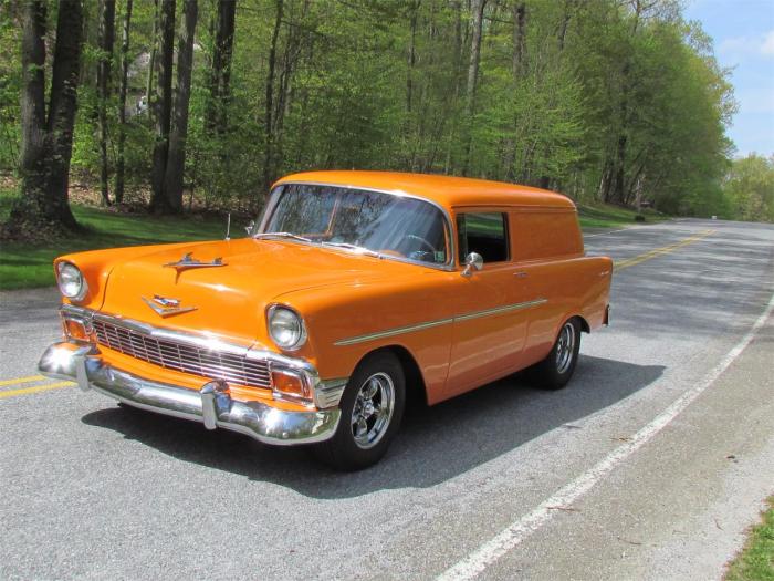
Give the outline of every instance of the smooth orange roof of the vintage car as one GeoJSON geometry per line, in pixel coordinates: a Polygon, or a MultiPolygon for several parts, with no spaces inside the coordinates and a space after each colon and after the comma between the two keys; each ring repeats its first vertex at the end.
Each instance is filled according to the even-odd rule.
{"type": "Polygon", "coordinates": [[[575,204],[569,198],[554,191],[468,177],[400,172],[326,170],[292,174],[278,180],[275,185],[286,183],[326,184],[402,193],[427,198],[447,208],[533,206],[575,209],[575,204]]]}

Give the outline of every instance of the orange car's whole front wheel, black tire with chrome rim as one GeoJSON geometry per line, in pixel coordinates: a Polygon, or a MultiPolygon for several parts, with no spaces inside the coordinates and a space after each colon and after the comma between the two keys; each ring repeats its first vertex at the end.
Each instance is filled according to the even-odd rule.
{"type": "Polygon", "coordinates": [[[406,376],[398,357],[389,352],[367,356],[344,390],[339,404],[342,418],[336,433],[331,439],[314,446],[314,455],[338,470],[373,466],[381,459],[397,434],[405,404],[406,376]],[[378,387],[374,387],[375,384],[378,387]],[[376,391],[367,397],[372,390],[376,391]],[[386,407],[383,408],[383,404],[386,407]],[[390,406],[391,412],[387,414],[390,406]],[[377,423],[380,423],[380,429],[377,429],[377,423]]]}

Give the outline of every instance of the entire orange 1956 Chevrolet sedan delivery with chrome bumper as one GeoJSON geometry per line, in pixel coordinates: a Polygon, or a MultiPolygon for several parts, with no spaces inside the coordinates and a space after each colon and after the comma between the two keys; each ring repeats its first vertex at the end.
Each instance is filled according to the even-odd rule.
{"type": "Polygon", "coordinates": [[[355,469],[385,454],[407,401],[526,367],[564,386],[580,332],[607,324],[613,264],[585,256],[558,194],[314,172],[279,180],[247,238],[54,268],[65,336],[41,373],[355,469]]]}

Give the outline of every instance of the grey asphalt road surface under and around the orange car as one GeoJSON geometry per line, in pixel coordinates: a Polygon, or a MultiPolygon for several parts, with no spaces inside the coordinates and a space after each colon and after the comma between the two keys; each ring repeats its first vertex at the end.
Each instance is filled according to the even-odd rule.
{"type": "Polygon", "coordinates": [[[618,263],[613,325],[566,390],[516,375],[416,411],[357,474],[30,391],[56,383],[18,381],[56,294],[0,294],[0,579],[719,578],[774,492],[774,227],[586,246],[618,263]]]}

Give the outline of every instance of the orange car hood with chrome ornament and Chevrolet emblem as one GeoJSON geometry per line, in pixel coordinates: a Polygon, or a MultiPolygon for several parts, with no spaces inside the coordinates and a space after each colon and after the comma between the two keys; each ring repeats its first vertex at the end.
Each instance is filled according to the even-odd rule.
{"type": "MultiPolygon", "coordinates": [[[[118,262],[111,271],[102,310],[153,325],[207,331],[234,340],[264,340],[264,312],[283,294],[406,273],[416,266],[280,240],[239,239],[158,248],[118,262]],[[175,268],[186,255],[222,266],[175,268]],[[154,298],[194,310],[164,317],[154,298]]],[[[164,313],[167,314],[167,313],[164,313]]]]}

